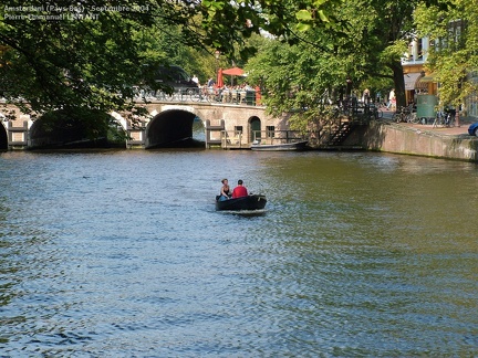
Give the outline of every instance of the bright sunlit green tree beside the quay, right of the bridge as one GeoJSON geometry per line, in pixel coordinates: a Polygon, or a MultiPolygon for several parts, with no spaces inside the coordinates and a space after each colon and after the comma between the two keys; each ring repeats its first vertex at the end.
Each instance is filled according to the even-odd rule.
{"type": "MultiPolygon", "coordinates": [[[[392,81],[397,105],[405,106],[402,57],[416,36],[414,10],[434,1],[356,0],[328,11],[326,24],[306,27],[291,46],[282,38],[260,51],[248,70],[251,80],[270,90],[266,99],[271,110],[295,112],[292,122],[304,126],[321,115],[323,94],[358,90],[373,78],[392,81]],[[314,113],[315,112],[315,113],[314,113]],[[301,113],[301,115],[299,115],[301,113]]],[[[289,43],[291,43],[289,41],[289,43]]]]}

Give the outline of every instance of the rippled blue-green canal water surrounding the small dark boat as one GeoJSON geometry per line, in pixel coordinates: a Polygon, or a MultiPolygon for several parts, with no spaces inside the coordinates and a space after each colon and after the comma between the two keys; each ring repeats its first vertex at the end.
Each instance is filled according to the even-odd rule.
{"type": "Polygon", "coordinates": [[[476,164],[10,151],[0,188],[2,357],[478,355],[476,164]]]}

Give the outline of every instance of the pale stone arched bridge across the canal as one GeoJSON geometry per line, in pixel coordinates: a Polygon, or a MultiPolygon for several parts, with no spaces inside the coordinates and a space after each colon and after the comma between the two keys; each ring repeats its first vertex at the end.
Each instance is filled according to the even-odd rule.
{"type": "MultiPolygon", "coordinates": [[[[144,105],[148,115],[135,123],[126,114],[112,112],[117,129],[123,130],[126,148],[155,148],[167,146],[193,137],[193,124],[200,120],[205,130],[207,148],[220,146],[249,147],[258,137],[277,136],[288,130],[287,116],[272,117],[266,114],[266,107],[247,104],[224,104],[210,102],[167,102],[152,101],[144,105]]],[[[52,135],[44,128],[42,116],[34,120],[20,113],[13,105],[0,106],[0,149],[30,149],[44,146],[58,146],[81,141],[70,134],[52,135]],[[14,112],[14,119],[8,119],[8,113],[14,112]]],[[[81,128],[76,133],[82,133],[81,128]]]]}

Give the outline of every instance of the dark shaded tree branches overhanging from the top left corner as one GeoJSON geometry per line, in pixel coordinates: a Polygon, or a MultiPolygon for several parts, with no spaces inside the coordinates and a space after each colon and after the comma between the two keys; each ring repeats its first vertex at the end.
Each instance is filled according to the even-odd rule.
{"type": "Polygon", "coordinates": [[[24,112],[131,109],[132,86],[147,82],[155,65],[170,55],[157,51],[152,33],[167,40],[168,32],[179,28],[173,42],[229,54],[261,28],[287,33],[294,15],[291,3],[127,0],[116,6],[85,0],[72,6],[66,0],[8,0],[0,8],[2,95],[28,104],[24,112]]]}

